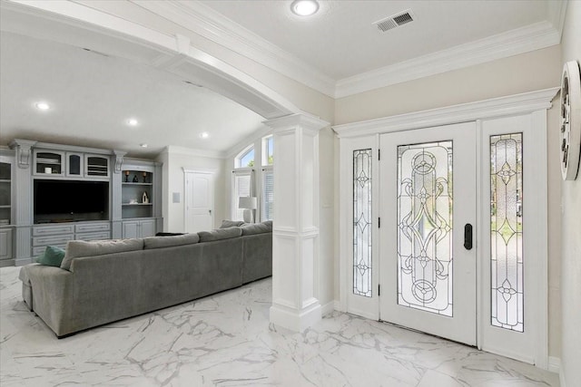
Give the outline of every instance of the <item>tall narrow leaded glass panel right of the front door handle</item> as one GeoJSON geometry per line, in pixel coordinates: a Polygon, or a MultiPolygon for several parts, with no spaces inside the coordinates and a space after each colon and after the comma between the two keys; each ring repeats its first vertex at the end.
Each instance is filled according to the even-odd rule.
{"type": "Polygon", "coordinates": [[[524,332],[522,133],[490,136],[491,324],[524,332]]]}

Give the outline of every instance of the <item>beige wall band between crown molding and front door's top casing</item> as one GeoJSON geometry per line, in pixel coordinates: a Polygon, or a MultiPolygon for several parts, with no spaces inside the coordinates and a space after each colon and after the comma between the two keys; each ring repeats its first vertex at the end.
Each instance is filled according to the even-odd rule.
{"type": "Polygon", "coordinates": [[[560,84],[560,50],[552,46],[337,100],[335,124],[424,111],[533,92],[560,84]]]}

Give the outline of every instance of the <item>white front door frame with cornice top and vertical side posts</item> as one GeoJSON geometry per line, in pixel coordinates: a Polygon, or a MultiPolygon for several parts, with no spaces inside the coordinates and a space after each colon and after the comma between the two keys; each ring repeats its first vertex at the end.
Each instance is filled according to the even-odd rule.
{"type": "MultiPolygon", "coordinates": [[[[546,90],[541,90],[537,92],[527,92],[523,94],[511,95],[507,97],[496,98],[492,100],[486,100],[481,102],[470,102],[466,104],[450,106],[445,108],[439,108],[429,111],[419,111],[419,112],[412,112],[407,114],[401,114],[397,116],[391,116],[387,118],[371,120],[371,121],[361,121],[361,122],[354,122],[350,124],[344,125],[337,125],[333,127],[333,130],[338,134],[340,138],[340,150],[347,149],[348,144],[352,139],[362,138],[366,136],[373,136],[378,135],[379,133],[389,133],[395,131],[409,131],[414,129],[420,128],[427,128],[427,127],[434,127],[446,124],[453,124],[458,122],[466,122],[466,121],[477,121],[478,127],[478,136],[481,136],[481,124],[482,121],[495,119],[499,117],[507,117],[507,116],[517,116],[517,115],[528,115],[530,117],[531,127],[536,132],[538,136],[537,145],[538,148],[545,148],[545,150],[540,150],[538,153],[538,157],[545,160],[545,162],[541,162],[544,164],[544,168],[539,170],[539,175],[543,176],[545,179],[545,187],[546,187],[546,179],[547,179],[547,110],[552,106],[552,100],[558,92],[558,88],[551,88],[546,90]]],[[[377,139],[377,137],[376,137],[377,139]]],[[[377,140],[376,140],[377,141],[377,140]]],[[[482,139],[480,138],[480,141],[482,139]]],[[[482,142],[481,142],[482,143],[482,142]]],[[[377,146],[377,142],[376,142],[377,146]]],[[[477,158],[478,158],[478,171],[479,174],[482,173],[482,170],[487,168],[482,165],[481,159],[482,155],[481,147],[477,147],[477,158]]],[[[340,151],[340,170],[339,170],[339,203],[338,203],[338,210],[339,210],[339,219],[340,219],[340,254],[339,254],[339,289],[340,289],[340,299],[335,303],[335,308],[340,311],[347,311],[348,301],[347,301],[347,292],[348,289],[348,275],[350,274],[350,257],[351,252],[348,246],[348,242],[350,242],[350,238],[352,237],[352,230],[349,227],[350,222],[352,219],[349,218],[350,215],[350,200],[348,198],[349,195],[345,195],[344,192],[349,192],[352,189],[352,180],[347,179],[347,174],[345,173],[349,168],[349,163],[344,160],[344,151],[340,151]]],[[[541,159],[541,160],[542,160],[541,159]]],[[[349,160],[348,160],[349,161],[349,160]]],[[[350,167],[352,168],[352,166],[350,167]]],[[[482,187],[480,185],[482,176],[478,176],[478,195],[482,192],[482,187]]],[[[540,181],[543,184],[543,181],[540,181]]],[[[543,219],[547,219],[547,189],[543,189],[540,192],[540,196],[538,199],[538,203],[540,205],[538,210],[538,216],[540,217],[540,222],[543,222],[543,219]]],[[[481,202],[481,198],[478,198],[478,201],[481,202]]],[[[478,240],[483,240],[482,235],[479,233],[482,232],[483,227],[482,221],[482,209],[479,209],[478,219],[479,219],[479,226],[477,230],[477,237],[478,240]]],[[[537,297],[537,303],[535,305],[536,311],[534,315],[537,316],[537,329],[535,330],[535,353],[533,362],[540,368],[547,369],[548,367],[548,311],[547,311],[547,304],[548,304],[548,282],[547,282],[547,222],[543,223],[544,226],[539,227],[538,232],[543,234],[545,237],[539,237],[537,239],[537,250],[541,258],[537,262],[537,266],[535,267],[535,274],[534,276],[537,277],[537,289],[536,293],[534,294],[537,297]]],[[[478,241],[477,241],[478,243],[478,241]]],[[[487,262],[483,262],[483,258],[481,256],[482,249],[479,249],[479,254],[477,257],[477,265],[480,270],[478,273],[478,277],[481,276],[481,270],[487,265],[487,262]]],[[[477,290],[478,294],[478,314],[483,315],[482,307],[482,297],[487,296],[487,292],[482,291],[482,286],[478,286],[477,290]],[[486,294],[485,294],[486,293],[486,294]]],[[[529,295],[530,296],[530,295],[529,295]]],[[[488,351],[494,351],[494,348],[488,348],[487,345],[483,345],[483,341],[485,338],[483,337],[483,324],[487,324],[484,322],[482,318],[477,319],[477,330],[478,330],[478,348],[485,349],[488,351]]],[[[507,356],[511,356],[510,353],[502,353],[507,356]]]]}

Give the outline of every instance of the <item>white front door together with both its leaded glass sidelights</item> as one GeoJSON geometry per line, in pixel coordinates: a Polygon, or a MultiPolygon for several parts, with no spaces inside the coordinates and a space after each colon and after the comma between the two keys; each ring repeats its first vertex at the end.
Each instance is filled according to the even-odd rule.
{"type": "Polygon", "coordinates": [[[547,114],[491,103],[339,128],[340,306],[546,368],[547,114]]]}

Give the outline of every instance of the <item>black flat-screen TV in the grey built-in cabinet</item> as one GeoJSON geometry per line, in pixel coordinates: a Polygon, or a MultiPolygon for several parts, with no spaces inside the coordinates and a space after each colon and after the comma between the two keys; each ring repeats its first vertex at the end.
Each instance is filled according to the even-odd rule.
{"type": "Polygon", "coordinates": [[[108,219],[108,181],[34,179],[34,223],[108,219]]]}

